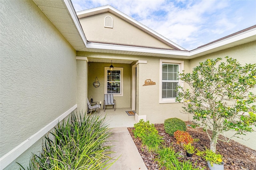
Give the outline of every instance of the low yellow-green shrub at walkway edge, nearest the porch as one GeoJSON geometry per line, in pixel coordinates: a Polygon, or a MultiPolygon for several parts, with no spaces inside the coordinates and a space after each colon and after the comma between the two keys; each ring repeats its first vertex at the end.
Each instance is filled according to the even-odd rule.
{"type": "Polygon", "coordinates": [[[143,119],[140,119],[138,123],[134,124],[134,130],[132,132],[135,138],[142,138],[148,134],[158,134],[154,124],[149,123],[149,121],[144,122],[143,119]]]}

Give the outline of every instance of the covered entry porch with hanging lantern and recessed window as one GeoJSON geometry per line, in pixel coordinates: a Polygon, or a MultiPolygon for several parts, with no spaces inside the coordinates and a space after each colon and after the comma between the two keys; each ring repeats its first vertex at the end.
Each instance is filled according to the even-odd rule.
{"type": "Polygon", "coordinates": [[[128,59],[128,56],[126,56],[127,58],[113,57],[113,55],[111,55],[112,58],[108,55],[104,55],[105,58],[101,57],[101,55],[95,54],[90,57],[76,57],[77,110],[87,110],[86,98],[88,98],[89,101],[92,99],[99,102],[101,104],[100,114],[105,115],[103,111],[104,94],[113,93],[116,100],[116,111],[114,109],[112,111],[112,106],[106,106],[106,113],[110,113],[108,117],[115,120],[110,123],[111,127],[131,127],[139,119],[146,120],[146,115],[139,116],[138,108],[138,84],[140,83],[138,69],[141,64],[146,64],[146,61],[138,60],[136,57],[128,59]],[[109,70],[110,65],[114,66],[113,72],[109,70]],[[98,81],[97,87],[94,86],[94,81],[98,81]],[[114,86],[110,87],[110,83],[114,86]],[[132,110],[136,112],[136,119],[134,116],[128,116],[125,112],[132,110]],[[127,118],[123,118],[123,116],[127,118]],[[134,122],[127,123],[131,119],[134,122]],[[124,123],[120,120],[124,120],[124,123]]]}

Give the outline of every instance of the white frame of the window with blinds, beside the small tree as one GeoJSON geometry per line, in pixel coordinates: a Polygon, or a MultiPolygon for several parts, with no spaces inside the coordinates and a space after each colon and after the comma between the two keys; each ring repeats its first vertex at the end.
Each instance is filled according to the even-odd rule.
{"type": "MultiPolygon", "coordinates": [[[[162,64],[163,63],[167,63],[167,64],[178,64],[179,65],[179,73],[182,73],[182,71],[184,70],[184,61],[181,60],[169,60],[169,59],[160,59],[160,69],[159,69],[159,103],[178,103],[177,101],[175,101],[175,98],[162,98],[162,64]]],[[[183,86],[183,82],[178,80],[178,85],[183,86]]]]}

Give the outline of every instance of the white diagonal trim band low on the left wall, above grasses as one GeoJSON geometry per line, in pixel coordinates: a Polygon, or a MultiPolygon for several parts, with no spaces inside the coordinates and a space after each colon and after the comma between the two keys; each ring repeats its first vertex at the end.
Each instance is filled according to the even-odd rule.
{"type": "Polygon", "coordinates": [[[0,158],[0,170],[6,168],[10,163],[12,163],[16,158],[18,158],[23,152],[25,152],[30,146],[36,143],[40,138],[42,138],[47,132],[49,132],[52,128],[54,128],[58,122],[62,121],[65,117],[67,117],[72,111],[77,108],[77,104],[68,109],[65,113],[60,115],[54,121],[43,127],[41,130],[30,136],[30,138],[26,139],[24,142],[13,148],[10,152],[5,154],[0,158]]]}

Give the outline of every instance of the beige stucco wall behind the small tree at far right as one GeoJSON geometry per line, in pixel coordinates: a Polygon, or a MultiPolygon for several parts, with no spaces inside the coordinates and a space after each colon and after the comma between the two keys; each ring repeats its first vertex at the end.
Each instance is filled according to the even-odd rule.
{"type": "MultiPolygon", "coordinates": [[[[222,57],[225,61],[225,56],[237,59],[240,64],[256,63],[256,41],[218,51],[216,53],[204,55],[190,60],[190,71],[198,65],[199,62],[205,61],[209,58],[222,57]]],[[[255,91],[254,91],[255,92],[255,91]]],[[[256,128],[254,127],[254,130],[256,128]]],[[[232,136],[232,132],[226,132],[228,137],[232,136]]],[[[256,149],[256,132],[248,133],[246,136],[240,135],[241,138],[233,138],[234,140],[244,144],[252,149],[256,149]],[[243,139],[242,139],[243,138],[243,139]]]]}

